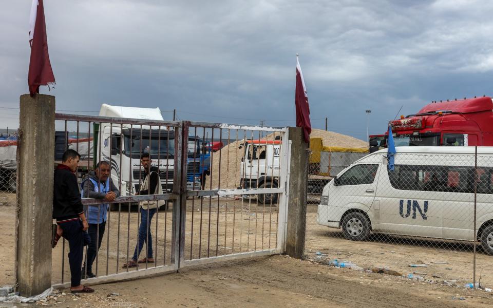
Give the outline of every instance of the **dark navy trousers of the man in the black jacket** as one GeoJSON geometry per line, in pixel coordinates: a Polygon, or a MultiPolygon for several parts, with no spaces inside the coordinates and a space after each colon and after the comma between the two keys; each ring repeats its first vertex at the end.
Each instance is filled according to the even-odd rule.
{"type": "Polygon", "coordinates": [[[81,284],[81,264],[84,253],[84,231],[80,219],[62,222],[60,227],[63,230],[63,237],[68,241],[69,253],[68,262],[70,264],[70,286],[81,284]]]}

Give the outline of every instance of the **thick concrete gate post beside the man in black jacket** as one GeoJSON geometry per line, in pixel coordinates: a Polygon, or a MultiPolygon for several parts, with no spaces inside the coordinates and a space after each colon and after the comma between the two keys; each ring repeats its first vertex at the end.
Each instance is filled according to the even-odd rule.
{"type": "Polygon", "coordinates": [[[22,296],[51,286],[54,134],[55,97],[21,95],[15,274],[22,296]]]}

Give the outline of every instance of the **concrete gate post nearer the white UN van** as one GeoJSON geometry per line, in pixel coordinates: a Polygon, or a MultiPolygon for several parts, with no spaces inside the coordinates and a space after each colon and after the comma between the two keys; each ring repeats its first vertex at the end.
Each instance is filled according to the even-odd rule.
{"type": "Polygon", "coordinates": [[[289,127],[290,176],[286,254],[300,259],[305,253],[307,221],[308,149],[303,130],[289,127]]]}

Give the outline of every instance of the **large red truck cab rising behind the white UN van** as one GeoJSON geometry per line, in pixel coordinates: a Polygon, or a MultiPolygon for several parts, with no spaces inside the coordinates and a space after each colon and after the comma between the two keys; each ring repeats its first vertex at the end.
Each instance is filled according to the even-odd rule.
{"type": "Polygon", "coordinates": [[[490,97],[432,102],[389,125],[395,146],[493,146],[493,102],[490,97]]]}

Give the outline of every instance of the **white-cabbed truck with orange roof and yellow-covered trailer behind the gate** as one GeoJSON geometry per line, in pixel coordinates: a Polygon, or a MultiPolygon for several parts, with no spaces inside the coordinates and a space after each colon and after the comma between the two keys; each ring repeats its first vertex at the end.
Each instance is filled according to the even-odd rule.
{"type": "MultiPolygon", "coordinates": [[[[244,155],[240,165],[240,187],[279,187],[281,140],[247,140],[240,145],[244,155]]],[[[310,139],[308,192],[320,195],[324,186],[354,161],[366,156],[366,148],[324,146],[321,138],[310,139]]],[[[260,203],[276,203],[277,194],[259,194],[260,203]]]]}

